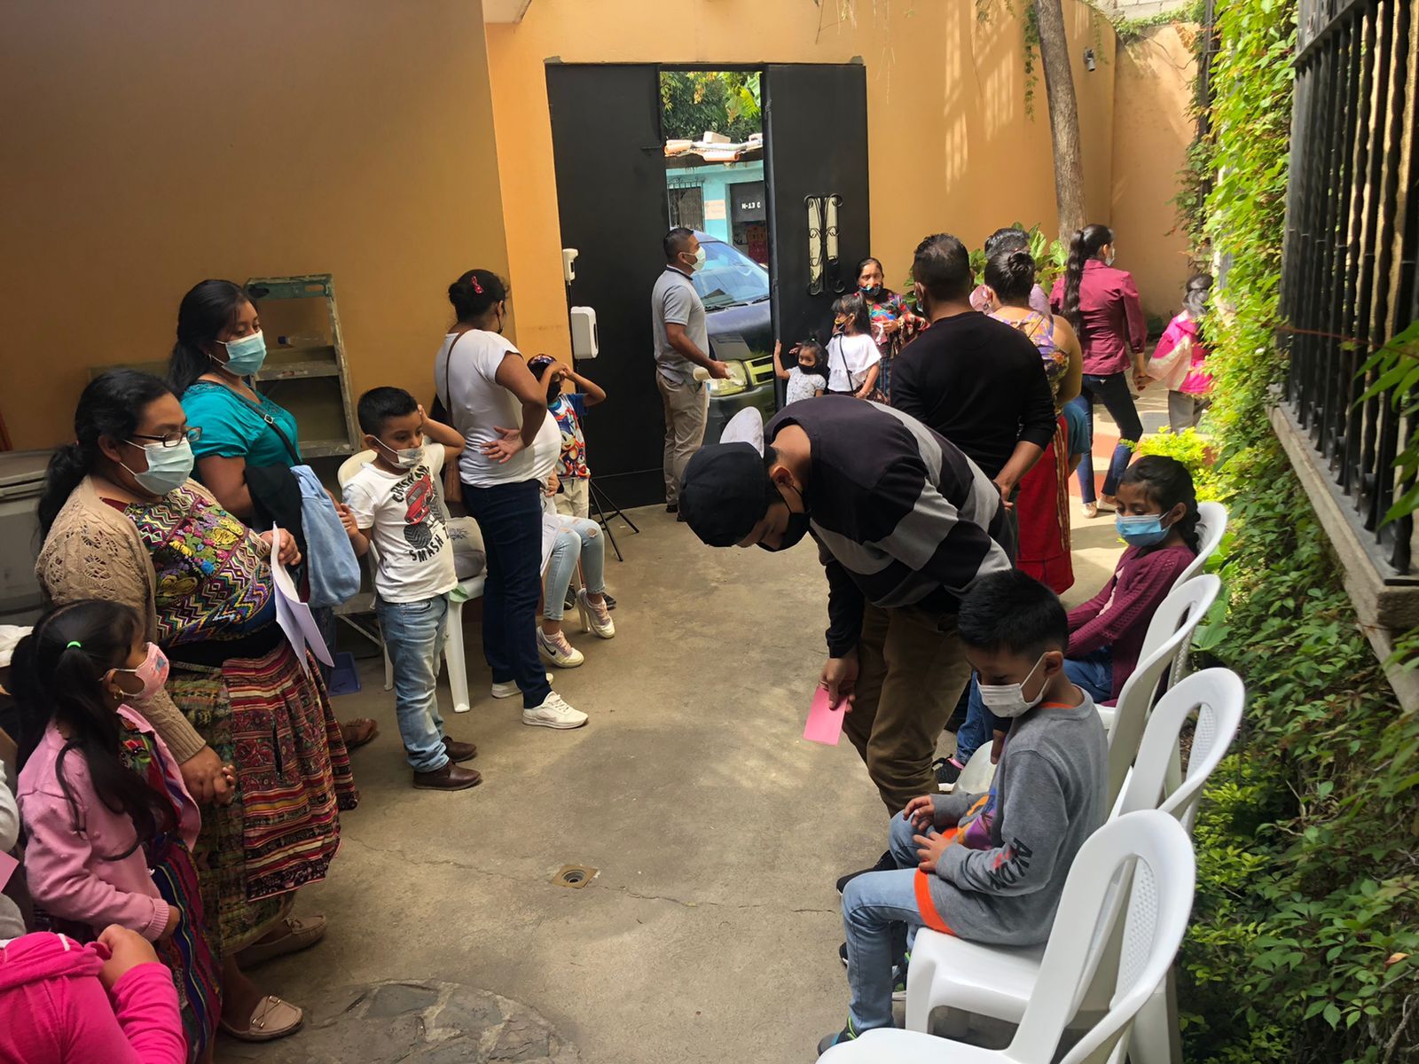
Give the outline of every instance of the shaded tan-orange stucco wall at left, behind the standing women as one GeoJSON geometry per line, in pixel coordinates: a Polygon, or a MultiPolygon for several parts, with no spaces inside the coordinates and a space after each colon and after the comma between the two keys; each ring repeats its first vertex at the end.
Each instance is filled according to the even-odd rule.
{"type": "Polygon", "coordinates": [[[72,438],[88,367],[166,358],[204,277],[331,272],[353,389],[426,397],[507,268],[480,0],[9,4],[0,410],[72,438]]]}

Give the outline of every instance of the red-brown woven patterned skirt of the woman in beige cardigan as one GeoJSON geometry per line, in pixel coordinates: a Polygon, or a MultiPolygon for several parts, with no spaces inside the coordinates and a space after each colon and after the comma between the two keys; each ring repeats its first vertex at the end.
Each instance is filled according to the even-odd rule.
{"type": "Polygon", "coordinates": [[[359,793],[314,658],[301,668],[282,643],[220,670],[173,663],[167,692],[223,762],[237,797],[203,810],[197,874],[223,952],[261,938],[291,891],[325,878],[339,847],[339,811],[359,793]]]}

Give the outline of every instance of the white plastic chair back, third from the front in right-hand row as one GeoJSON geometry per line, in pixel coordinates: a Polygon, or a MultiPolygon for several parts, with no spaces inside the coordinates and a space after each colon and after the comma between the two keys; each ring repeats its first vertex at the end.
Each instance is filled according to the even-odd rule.
{"type": "Polygon", "coordinates": [[[1212,609],[1222,592],[1222,580],[1208,573],[1174,587],[1154,611],[1138,667],[1118,694],[1108,726],[1108,807],[1112,809],[1124,787],[1124,777],[1138,753],[1148,714],[1152,711],[1158,685],[1172,668],[1181,647],[1192,641],[1192,633],[1212,609]],[[1149,651],[1148,648],[1152,647],[1149,651]]]}

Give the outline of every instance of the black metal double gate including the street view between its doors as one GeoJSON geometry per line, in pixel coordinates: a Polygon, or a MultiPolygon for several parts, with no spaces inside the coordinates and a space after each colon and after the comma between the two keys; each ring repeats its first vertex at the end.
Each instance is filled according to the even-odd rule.
{"type": "Polygon", "coordinates": [[[826,335],[870,251],[866,71],[552,60],[546,81],[568,301],[596,312],[583,369],[610,396],[583,423],[587,455],[610,498],[646,505],[667,491],[648,304],[666,230],[701,234],[708,353],[734,367],[711,392],[714,441],[739,410],[776,409],[775,336],[826,335]]]}

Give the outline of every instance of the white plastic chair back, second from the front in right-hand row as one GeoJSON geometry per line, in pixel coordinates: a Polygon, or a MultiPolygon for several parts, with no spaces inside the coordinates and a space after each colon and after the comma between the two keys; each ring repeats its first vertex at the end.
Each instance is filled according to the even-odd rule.
{"type": "Polygon", "coordinates": [[[1191,834],[1202,802],[1202,787],[1232,746],[1232,739],[1242,726],[1244,702],[1242,678],[1229,668],[1193,672],[1159,698],[1120,796],[1118,813],[1159,809],[1175,816],[1191,834]],[[1198,712],[1198,725],[1192,733],[1188,775],[1171,794],[1165,794],[1168,766],[1178,749],[1178,736],[1193,711],[1198,712]]]}

